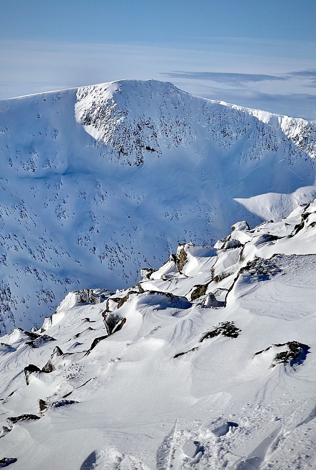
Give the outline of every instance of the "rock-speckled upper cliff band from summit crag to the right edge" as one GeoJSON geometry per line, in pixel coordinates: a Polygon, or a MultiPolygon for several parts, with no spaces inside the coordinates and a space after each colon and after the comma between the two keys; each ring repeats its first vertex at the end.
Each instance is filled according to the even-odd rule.
{"type": "Polygon", "coordinates": [[[294,159],[299,158],[297,148],[315,157],[313,123],[198,98],[171,83],[94,85],[78,89],[76,98],[77,122],[107,147],[115,162],[140,165],[145,150],[161,153],[203,138],[222,148],[244,138],[243,151],[236,154],[240,159],[247,154],[260,159],[266,151],[280,148],[294,159]]]}

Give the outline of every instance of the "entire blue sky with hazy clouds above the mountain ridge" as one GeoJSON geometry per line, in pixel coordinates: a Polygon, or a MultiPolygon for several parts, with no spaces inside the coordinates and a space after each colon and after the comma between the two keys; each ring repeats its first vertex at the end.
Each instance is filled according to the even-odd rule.
{"type": "Polygon", "coordinates": [[[314,0],[0,0],[0,98],[120,79],[316,119],[314,0]]]}

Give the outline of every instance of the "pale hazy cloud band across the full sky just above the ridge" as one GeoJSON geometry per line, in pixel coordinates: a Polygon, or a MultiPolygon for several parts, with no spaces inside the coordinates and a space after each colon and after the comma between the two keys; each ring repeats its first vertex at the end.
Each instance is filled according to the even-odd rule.
{"type": "Polygon", "coordinates": [[[156,79],[194,95],[316,119],[312,60],[290,56],[293,48],[289,52],[279,43],[272,49],[266,45],[262,55],[256,55],[258,42],[248,40],[239,51],[230,43],[218,43],[199,50],[0,41],[0,98],[122,79],[156,79]],[[252,54],[246,54],[252,43],[252,54]]]}

